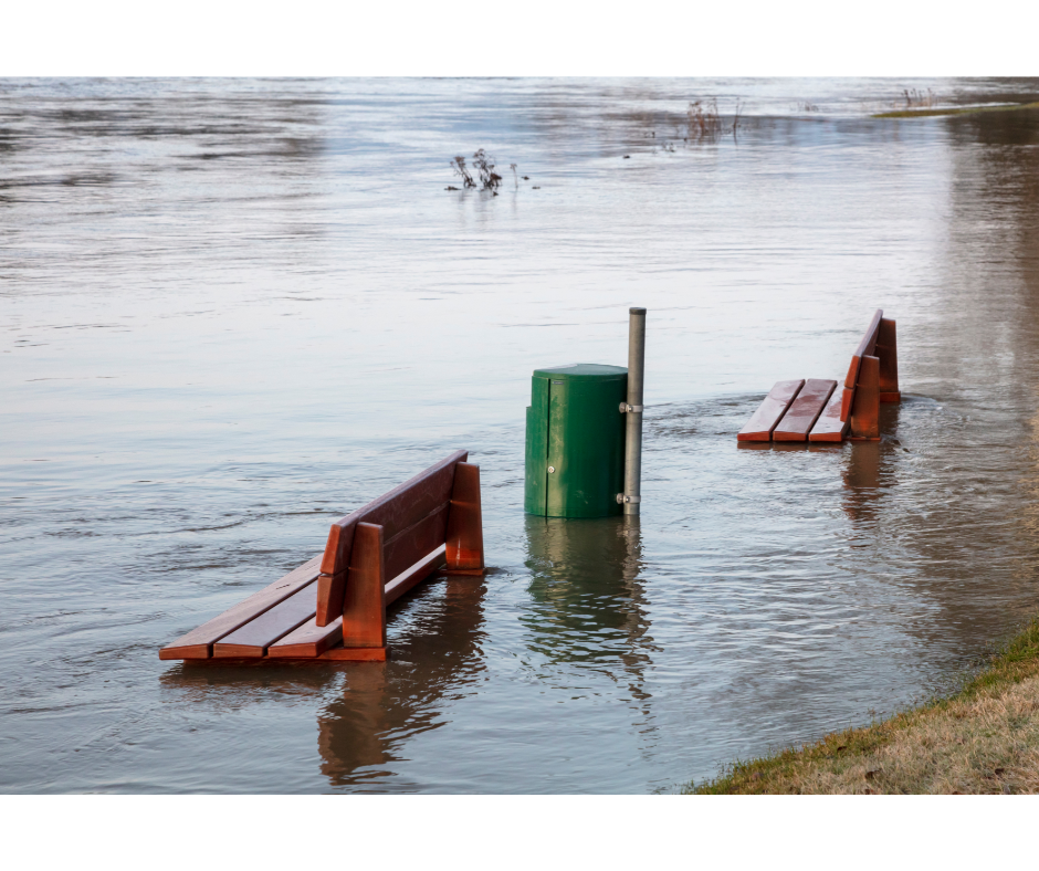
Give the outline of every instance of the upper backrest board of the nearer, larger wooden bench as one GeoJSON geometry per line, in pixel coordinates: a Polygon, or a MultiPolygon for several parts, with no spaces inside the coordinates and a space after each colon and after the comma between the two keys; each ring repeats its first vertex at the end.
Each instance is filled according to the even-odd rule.
{"type": "Polygon", "coordinates": [[[400,486],[369,502],[353,514],[336,521],[328,534],[321,570],[335,575],[349,563],[351,543],[348,531],[358,523],[381,526],[387,538],[392,538],[416,521],[429,514],[437,505],[447,502],[454,481],[454,466],[469,457],[469,451],[455,451],[439,463],[420,472],[400,486]]]}

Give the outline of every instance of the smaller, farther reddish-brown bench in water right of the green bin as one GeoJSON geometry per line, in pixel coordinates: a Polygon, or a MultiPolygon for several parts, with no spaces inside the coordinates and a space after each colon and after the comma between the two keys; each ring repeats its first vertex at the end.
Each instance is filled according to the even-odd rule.
{"type": "Polygon", "coordinates": [[[776,381],[738,441],[875,441],[880,403],[899,402],[895,322],[878,308],[859,342],[843,388],[816,378],[776,381]]]}

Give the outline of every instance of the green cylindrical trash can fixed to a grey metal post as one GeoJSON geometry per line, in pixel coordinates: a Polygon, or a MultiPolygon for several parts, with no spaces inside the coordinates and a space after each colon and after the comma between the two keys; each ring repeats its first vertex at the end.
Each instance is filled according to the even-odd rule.
{"type": "Polygon", "coordinates": [[[527,409],[524,511],[546,517],[622,514],[628,370],[578,363],[535,369],[527,409]]]}

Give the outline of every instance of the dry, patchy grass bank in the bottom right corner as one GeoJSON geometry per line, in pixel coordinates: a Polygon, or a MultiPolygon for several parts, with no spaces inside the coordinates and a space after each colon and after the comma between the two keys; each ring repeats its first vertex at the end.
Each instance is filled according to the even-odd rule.
{"type": "Polygon", "coordinates": [[[1039,793],[1039,619],[959,692],[817,744],[735,763],[686,793],[1039,793]]]}

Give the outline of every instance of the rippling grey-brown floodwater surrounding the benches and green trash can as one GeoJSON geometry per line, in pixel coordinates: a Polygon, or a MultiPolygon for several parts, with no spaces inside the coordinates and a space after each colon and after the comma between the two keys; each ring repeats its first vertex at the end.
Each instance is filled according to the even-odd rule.
{"type": "Polygon", "coordinates": [[[952,685],[1039,605],[1039,113],[869,117],[928,87],[1039,99],[0,82],[0,788],[669,793],[952,685]],[[630,305],[641,520],[525,516],[531,372],[625,365],[630,305]],[[737,448],[877,307],[883,441],[737,448]],[[493,568],[390,661],[158,660],[458,448],[493,568]]]}

